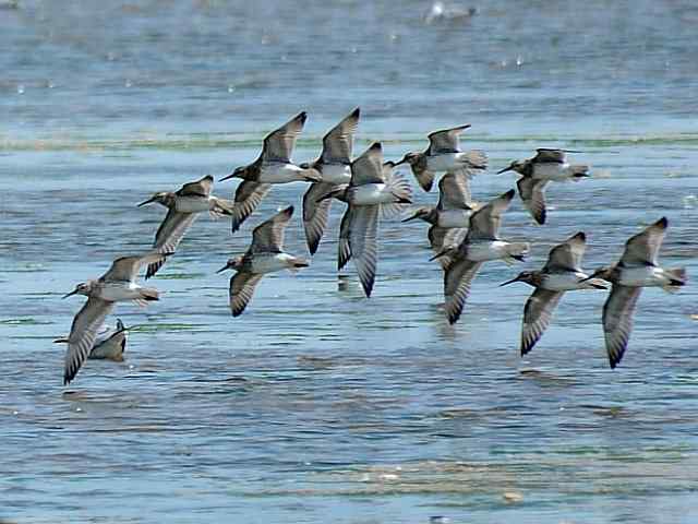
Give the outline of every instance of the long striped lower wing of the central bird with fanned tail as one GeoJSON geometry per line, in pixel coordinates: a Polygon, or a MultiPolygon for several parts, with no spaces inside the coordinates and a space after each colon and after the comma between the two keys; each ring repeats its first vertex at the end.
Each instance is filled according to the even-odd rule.
{"type": "Polygon", "coordinates": [[[360,205],[351,211],[349,249],[359,281],[371,296],[377,265],[378,205],[360,205]]]}

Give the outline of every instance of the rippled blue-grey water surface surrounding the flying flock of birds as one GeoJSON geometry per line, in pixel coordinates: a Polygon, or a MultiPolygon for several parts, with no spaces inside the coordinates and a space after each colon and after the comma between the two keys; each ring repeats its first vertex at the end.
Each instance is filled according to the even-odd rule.
{"type": "MultiPolygon", "coordinates": [[[[357,148],[386,156],[471,122],[494,170],[540,145],[581,150],[594,177],[549,189],[549,224],[518,199],[502,234],[525,267],[577,230],[587,267],[666,215],[662,260],[698,275],[698,8],[690,1],[503,2],[425,25],[429,3],[342,0],[22,1],[0,10],[0,519],[10,522],[694,522],[698,291],[647,289],[622,365],[607,368],[603,293],[570,293],[518,355],[521,267],[491,263],[460,323],[421,224],[382,224],[374,296],[338,289],[336,235],[310,269],[265,277],[245,313],[216,275],[302,184],[275,188],[242,230],[202,217],[120,305],[122,365],[61,385],[82,299],[60,300],[164,216],[155,190],[256,157],[310,114],[296,153],[362,107],[357,148]],[[693,515],[693,517],[691,517],[693,515]]],[[[234,183],[217,184],[228,195],[234,183]]],[[[435,195],[417,193],[420,203],[435,195]]],[[[298,210],[300,211],[300,209],[298,210]]],[[[305,253],[297,216],[287,247],[305,253]]]]}

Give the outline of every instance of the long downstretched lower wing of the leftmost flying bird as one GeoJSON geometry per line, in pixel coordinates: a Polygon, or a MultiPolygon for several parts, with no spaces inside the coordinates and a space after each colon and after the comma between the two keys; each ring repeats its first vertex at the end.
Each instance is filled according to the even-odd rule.
{"type": "Polygon", "coordinates": [[[97,331],[107,314],[113,310],[113,307],[115,302],[89,297],[73,319],[73,325],[68,337],[68,349],[65,350],[64,385],[75,378],[81,366],[87,359],[87,355],[89,355],[95,343],[97,331]]]}

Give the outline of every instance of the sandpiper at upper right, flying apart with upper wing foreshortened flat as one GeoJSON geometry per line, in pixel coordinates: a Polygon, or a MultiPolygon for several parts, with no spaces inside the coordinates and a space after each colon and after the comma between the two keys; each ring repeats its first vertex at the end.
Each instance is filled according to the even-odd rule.
{"type": "Polygon", "coordinates": [[[589,177],[589,166],[570,165],[566,153],[575,151],[538,148],[532,158],[515,160],[497,175],[516,171],[522,176],[516,183],[524,205],[538,224],[545,224],[545,186],[551,181],[579,181],[589,177]]]}

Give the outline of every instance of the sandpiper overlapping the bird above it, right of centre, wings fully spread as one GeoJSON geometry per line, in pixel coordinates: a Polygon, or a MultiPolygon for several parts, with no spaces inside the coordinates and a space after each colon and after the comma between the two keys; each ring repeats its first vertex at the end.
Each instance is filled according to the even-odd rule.
{"type": "Polygon", "coordinates": [[[491,200],[470,215],[468,234],[457,248],[447,248],[432,258],[452,258],[444,269],[444,296],[446,317],[449,323],[460,318],[470,293],[472,279],[483,262],[504,260],[507,264],[522,261],[528,253],[528,242],[508,242],[498,237],[502,215],[514,199],[514,190],[491,200]]]}

